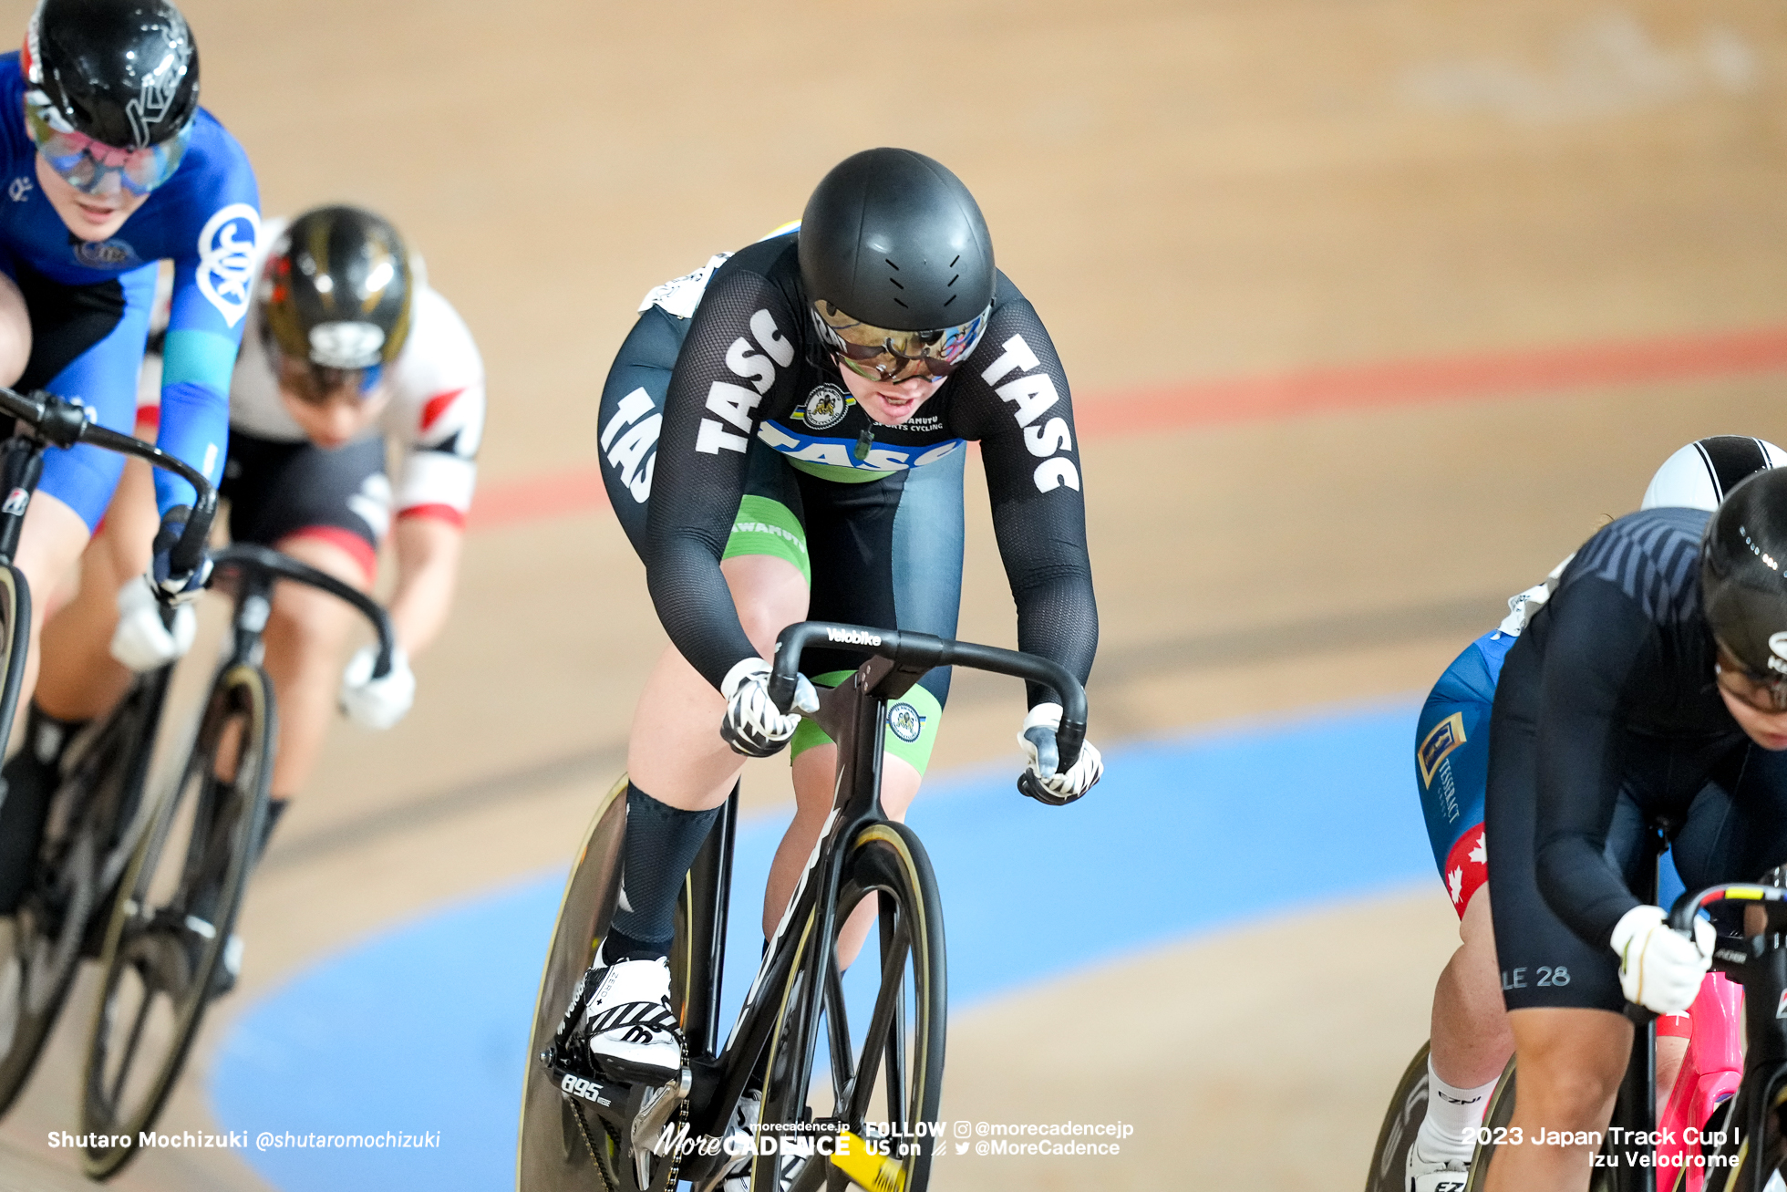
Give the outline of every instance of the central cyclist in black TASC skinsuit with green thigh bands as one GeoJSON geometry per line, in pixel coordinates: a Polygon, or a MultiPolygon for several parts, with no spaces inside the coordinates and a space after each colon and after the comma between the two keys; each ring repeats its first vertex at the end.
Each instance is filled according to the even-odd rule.
{"type": "MultiPolygon", "coordinates": [[[[633,722],[620,910],[583,1020],[608,1076],[661,1081],[679,1067],[663,963],[672,911],[740,754],[793,742],[799,811],[770,874],[768,926],[831,808],[835,747],[767,695],[776,634],[813,617],[954,636],[969,440],[981,445],[1019,649],[1085,677],[1097,608],[1067,377],[1035,309],[994,268],[956,175],[908,150],[856,154],[813,191],[799,231],[642,307],[602,395],[600,443],[672,645],[633,722]]],[[[806,656],[820,684],[856,661],[806,656]]],[[[947,692],[938,670],[890,708],[890,815],[919,788],[947,692]]],[[[797,706],[815,708],[804,679],[797,706]]],[[[1101,761],[1086,747],[1056,772],[1060,715],[1033,688],[1020,740],[1065,799],[1097,781],[1101,761]]],[[[845,961],[868,929],[863,911],[845,961]]]]}

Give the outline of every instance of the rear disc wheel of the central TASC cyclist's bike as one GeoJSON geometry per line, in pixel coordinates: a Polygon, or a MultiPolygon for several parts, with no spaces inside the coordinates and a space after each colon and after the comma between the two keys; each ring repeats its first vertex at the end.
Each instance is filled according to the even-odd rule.
{"type": "Polygon", "coordinates": [[[540,1054],[552,1045],[577,981],[608,933],[620,892],[620,845],[627,835],[627,777],[622,774],[590,817],[583,849],[565,881],[552,944],[534,999],[534,1028],[522,1078],[522,1126],[515,1187],[522,1192],[606,1192],[620,1188],[618,1142],[595,1113],[583,1113],[554,1083],[540,1054]]]}

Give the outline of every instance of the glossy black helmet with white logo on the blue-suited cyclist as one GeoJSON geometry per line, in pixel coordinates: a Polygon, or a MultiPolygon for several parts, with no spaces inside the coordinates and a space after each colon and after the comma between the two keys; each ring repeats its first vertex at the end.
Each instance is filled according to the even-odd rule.
{"type": "Polygon", "coordinates": [[[68,129],[113,148],[172,141],[198,113],[198,46],[168,0],[41,0],[21,66],[68,129]]]}

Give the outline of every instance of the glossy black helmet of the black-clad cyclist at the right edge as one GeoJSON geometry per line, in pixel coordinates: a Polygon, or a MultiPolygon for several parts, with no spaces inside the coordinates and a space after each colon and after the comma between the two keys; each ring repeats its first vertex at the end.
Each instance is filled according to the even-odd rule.
{"type": "MultiPolygon", "coordinates": [[[[1701,597],[1712,634],[1749,677],[1787,697],[1787,468],[1757,472],[1707,522],[1701,597]]],[[[1721,663],[1723,667],[1723,663],[1721,663]]]]}

